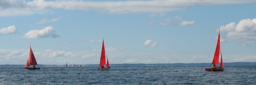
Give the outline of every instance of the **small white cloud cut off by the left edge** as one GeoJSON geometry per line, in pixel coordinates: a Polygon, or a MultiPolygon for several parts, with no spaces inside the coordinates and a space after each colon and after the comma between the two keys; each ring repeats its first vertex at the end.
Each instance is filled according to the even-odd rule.
{"type": "Polygon", "coordinates": [[[18,31],[16,30],[15,26],[9,26],[7,28],[1,28],[0,34],[17,34],[18,31]]]}

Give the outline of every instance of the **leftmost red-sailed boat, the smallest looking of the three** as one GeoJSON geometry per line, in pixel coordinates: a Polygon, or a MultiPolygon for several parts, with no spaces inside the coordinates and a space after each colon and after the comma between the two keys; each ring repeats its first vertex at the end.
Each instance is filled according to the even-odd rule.
{"type": "Polygon", "coordinates": [[[29,52],[29,57],[27,59],[26,65],[25,65],[25,69],[29,69],[29,70],[35,70],[35,69],[40,69],[40,68],[35,68],[35,65],[38,65],[36,60],[35,60],[35,56],[33,54],[32,48],[30,47],[30,52],[29,52]],[[33,67],[29,67],[30,65],[33,65],[33,67]]]}

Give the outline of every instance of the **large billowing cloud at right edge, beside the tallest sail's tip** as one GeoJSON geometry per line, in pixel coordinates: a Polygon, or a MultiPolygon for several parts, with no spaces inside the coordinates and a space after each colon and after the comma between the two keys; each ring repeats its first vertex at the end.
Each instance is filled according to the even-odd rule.
{"type": "Polygon", "coordinates": [[[227,35],[222,38],[228,41],[239,41],[242,45],[256,43],[256,18],[244,19],[238,24],[230,23],[220,27],[221,32],[226,32],[227,35]]]}

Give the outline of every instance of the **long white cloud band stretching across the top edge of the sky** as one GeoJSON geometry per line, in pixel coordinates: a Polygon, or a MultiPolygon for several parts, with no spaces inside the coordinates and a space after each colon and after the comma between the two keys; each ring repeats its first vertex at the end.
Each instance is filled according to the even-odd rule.
{"type": "Polygon", "coordinates": [[[52,9],[94,10],[108,14],[150,13],[163,16],[170,11],[182,11],[186,6],[254,3],[255,0],[130,0],[130,1],[81,1],[81,0],[1,0],[0,16],[49,13],[52,9]],[[156,4],[157,3],[157,4],[156,4]]]}

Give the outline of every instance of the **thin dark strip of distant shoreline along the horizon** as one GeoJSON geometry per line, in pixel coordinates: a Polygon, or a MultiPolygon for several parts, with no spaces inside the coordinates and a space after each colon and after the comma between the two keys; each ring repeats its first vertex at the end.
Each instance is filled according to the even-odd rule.
{"type": "MultiPolygon", "coordinates": [[[[130,63],[123,63],[123,64],[111,64],[112,66],[147,66],[147,65],[199,65],[199,66],[205,66],[205,65],[211,65],[211,63],[154,63],[154,64],[144,64],[144,63],[137,63],[137,64],[130,64],[130,63]]],[[[227,65],[256,65],[256,62],[224,62],[224,66],[227,65]]],[[[0,65],[0,66],[25,66],[25,65],[0,65]]],[[[65,66],[65,65],[38,65],[38,66],[65,66]]],[[[74,65],[79,66],[79,65],[74,65]]],[[[99,66],[99,64],[87,64],[87,65],[81,65],[81,66],[99,66]]]]}

